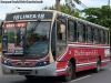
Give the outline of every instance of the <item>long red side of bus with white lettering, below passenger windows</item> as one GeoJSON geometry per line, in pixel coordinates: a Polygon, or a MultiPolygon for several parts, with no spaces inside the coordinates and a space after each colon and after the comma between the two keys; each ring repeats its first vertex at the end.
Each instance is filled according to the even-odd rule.
{"type": "Polygon", "coordinates": [[[97,66],[97,59],[99,56],[101,58],[101,66],[104,66],[108,64],[109,59],[108,58],[104,59],[103,48],[98,48],[98,46],[94,46],[94,48],[89,46],[87,49],[85,48],[87,45],[84,48],[69,46],[68,53],[61,58],[61,61],[68,61],[71,58],[75,59],[77,72],[94,69],[97,66]],[[80,54],[79,52],[81,51],[89,52],[89,54],[80,54]],[[90,52],[92,52],[92,54],[90,52]]]}

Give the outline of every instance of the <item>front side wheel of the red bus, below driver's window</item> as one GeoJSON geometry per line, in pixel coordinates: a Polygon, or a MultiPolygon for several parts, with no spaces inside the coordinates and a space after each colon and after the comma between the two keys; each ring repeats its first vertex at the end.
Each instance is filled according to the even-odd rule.
{"type": "Polygon", "coordinates": [[[72,75],[73,74],[73,65],[71,62],[69,62],[68,64],[68,73],[65,75],[63,75],[63,81],[68,82],[72,80],[72,75]]]}

